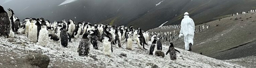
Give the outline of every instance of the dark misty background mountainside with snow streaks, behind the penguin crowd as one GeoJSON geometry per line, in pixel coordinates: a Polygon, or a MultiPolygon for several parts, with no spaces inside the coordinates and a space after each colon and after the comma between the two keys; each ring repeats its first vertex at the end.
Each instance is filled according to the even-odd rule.
{"type": "Polygon", "coordinates": [[[60,6],[64,0],[0,2],[5,9],[13,9],[20,19],[43,17],[52,22],[73,19],[76,22],[133,25],[144,30],[158,27],[166,21],[169,22],[165,25],[179,24],[186,11],[196,24],[203,24],[224,15],[256,9],[256,0],[75,0],[60,6]]]}

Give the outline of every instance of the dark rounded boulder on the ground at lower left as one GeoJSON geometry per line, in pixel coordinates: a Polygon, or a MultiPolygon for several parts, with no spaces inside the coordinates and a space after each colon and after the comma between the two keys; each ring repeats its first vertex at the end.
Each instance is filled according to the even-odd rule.
{"type": "Polygon", "coordinates": [[[25,63],[40,68],[47,68],[50,62],[50,58],[47,55],[41,53],[31,53],[25,57],[25,63]]]}

